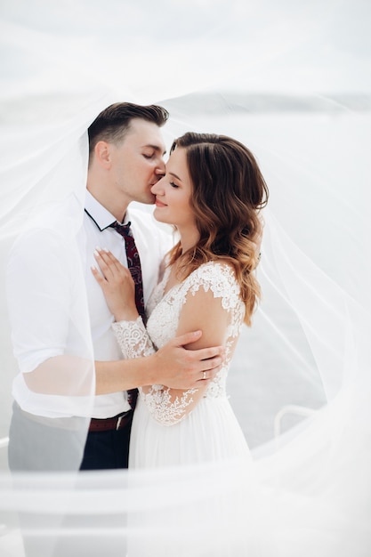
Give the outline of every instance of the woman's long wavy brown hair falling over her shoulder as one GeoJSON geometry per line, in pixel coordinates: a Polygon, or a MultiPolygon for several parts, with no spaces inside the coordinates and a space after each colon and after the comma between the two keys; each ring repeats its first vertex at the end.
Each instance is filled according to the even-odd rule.
{"type": "Polygon", "coordinates": [[[173,141],[174,149],[185,149],[193,208],[199,231],[198,244],[181,253],[180,242],[170,252],[182,278],[199,265],[221,259],[233,266],[241,297],[246,305],[246,325],[256,300],[261,297],[254,277],[259,262],[262,219],[269,191],[254,155],[245,145],[226,135],[185,133],[173,141]]]}

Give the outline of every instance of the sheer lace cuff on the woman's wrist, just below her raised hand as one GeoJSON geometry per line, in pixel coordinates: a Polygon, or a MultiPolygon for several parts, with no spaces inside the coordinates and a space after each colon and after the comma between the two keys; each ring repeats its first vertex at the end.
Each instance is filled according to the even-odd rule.
{"type": "Polygon", "coordinates": [[[155,352],[141,317],[135,321],[112,323],[112,328],[125,359],[150,356],[155,352]]]}

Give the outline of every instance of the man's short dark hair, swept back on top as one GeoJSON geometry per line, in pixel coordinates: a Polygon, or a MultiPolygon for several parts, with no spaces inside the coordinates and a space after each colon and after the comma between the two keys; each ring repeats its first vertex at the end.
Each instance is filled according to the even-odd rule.
{"type": "Polygon", "coordinates": [[[141,118],[141,120],[153,122],[161,127],[165,125],[168,117],[167,110],[156,104],[148,106],[141,106],[132,102],[111,104],[107,109],[102,110],[88,127],[89,156],[92,155],[98,141],[110,141],[112,143],[122,141],[133,118],[141,118]]]}

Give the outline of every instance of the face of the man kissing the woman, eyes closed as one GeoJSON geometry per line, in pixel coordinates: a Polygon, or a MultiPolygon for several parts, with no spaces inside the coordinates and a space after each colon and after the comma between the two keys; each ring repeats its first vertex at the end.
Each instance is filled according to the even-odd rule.
{"type": "Polygon", "coordinates": [[[128,203],[154,203],[150,189],[165,174],[164,155],[160,128],[152,122],[133,119],[124,140],[110,144],[111,177],[117,197],[125,196],[128,203]]]}

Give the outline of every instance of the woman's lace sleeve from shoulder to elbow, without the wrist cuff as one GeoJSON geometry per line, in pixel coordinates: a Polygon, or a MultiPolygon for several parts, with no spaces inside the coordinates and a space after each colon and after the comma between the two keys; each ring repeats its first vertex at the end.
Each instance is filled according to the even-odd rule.
{"type": "Polygon", "coordinates": [[[149,333],[155,343],[162,346],[167,340],[166,334],[167,338],[170,334],[168,323],[171,323],[173,328],[178,327],[180,319],[183,319],[183,327],[186,324],[185,330],[191,330],[195,316],[198,316],[198,327],[207,328],[209,323],[213,323],[214,334],[219,330],[219,338],[224,339],[222,342],[226,346],[226,359],[214,380],[198,389],[181,391],[163,385],[141,389],[152,417],[163,425],[181,422],[203,397],[225,395],[231,352],[245,316],[240,287],[229,264],[208,262],[191,273],[181,285],[173,288],[165,301],[158,304],[156,319],[149,322],[149,333]],[[202,314],[204,318],[201,318],[202,314]]]}

